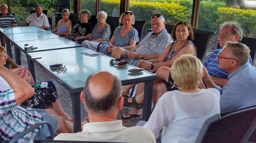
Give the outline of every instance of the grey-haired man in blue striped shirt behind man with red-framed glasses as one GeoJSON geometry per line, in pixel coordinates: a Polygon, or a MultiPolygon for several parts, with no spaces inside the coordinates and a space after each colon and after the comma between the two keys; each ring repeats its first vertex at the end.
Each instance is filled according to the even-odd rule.
{"type": "MultiPolygon", "coordinates": [[[[243,38],[243,29],[238,22],[224,22],[220,26],[219,30],[219,44],[220,48],[223,48],[227,41],[231,42],[241,42],[243,38]]],[[[213,53],[206,59],[203,63],[206,67],[209,75],[213,82],[224,87],[228,82],[228,72],[219,68],[219,61],[216,60],[217,55],[220,53],[221,49],[216,49],[213,53]]],[[[252,59],[249,58],[249,63],[252,63],[252,59]]]]}

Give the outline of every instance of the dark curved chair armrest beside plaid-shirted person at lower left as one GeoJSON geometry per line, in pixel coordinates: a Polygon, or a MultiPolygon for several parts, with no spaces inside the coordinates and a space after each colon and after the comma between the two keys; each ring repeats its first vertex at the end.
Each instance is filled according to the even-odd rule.
{"type": "Polygon", "coordinates": [[[32,130],[37,129],[39,126],[46,124],[51,138],[54,139],[55,138],[55,134],[54,131],[52,129],[52,126],[50,125],[50,123],[47,123],[45,121],[39,121],[38,123],[35,123],[34,125],[32,125],[31,127],[29,127],[28,129],[24,130],[23,132],[16,134],[15,136],[13,136],[13,138],[11,139],[11,141],[9,143],[15,143],[18,139],[20,139],[21,137],[25,136],[26,134],[28,134],[29,132],[32,132],[32,130]]]}

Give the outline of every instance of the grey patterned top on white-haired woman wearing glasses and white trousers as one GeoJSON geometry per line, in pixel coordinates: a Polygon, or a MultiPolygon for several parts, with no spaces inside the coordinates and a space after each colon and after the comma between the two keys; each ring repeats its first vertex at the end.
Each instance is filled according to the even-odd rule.
{"type": "Polygon", "coordinates": [[[101,38],[103,42],[109,42],[111,29],[110,25],[105,25],[103,28],[98,29],[99,24],[96,24],[94,26],[94,29],[92,31],[92,40],[101,38]]]}

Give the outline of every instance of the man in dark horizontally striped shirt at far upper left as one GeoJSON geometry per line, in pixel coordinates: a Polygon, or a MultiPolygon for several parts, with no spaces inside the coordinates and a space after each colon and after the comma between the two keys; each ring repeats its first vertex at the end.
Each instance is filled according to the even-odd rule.
{"type": "MultiPolygon", "coordinates": [[[[15,21],[15,18],[13,14],[8,13],[8,6],[6,4],[0,5],[0,27],[6,28],[6,27],[16,27],[17,23],[15,21]]],[[[6,44],[6,37],[3,37],[3,43],[6,44]]]]}

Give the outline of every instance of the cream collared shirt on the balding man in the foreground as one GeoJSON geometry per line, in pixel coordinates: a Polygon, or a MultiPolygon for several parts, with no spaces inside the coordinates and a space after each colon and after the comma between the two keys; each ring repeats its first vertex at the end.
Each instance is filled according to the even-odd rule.
{"type": "Polygon", "coordinates": [[[82,132],[59,134],[54,140],[155,143],[154,135],[148,129],[123,127],[121,120],[86,123],[82,132]]]}

